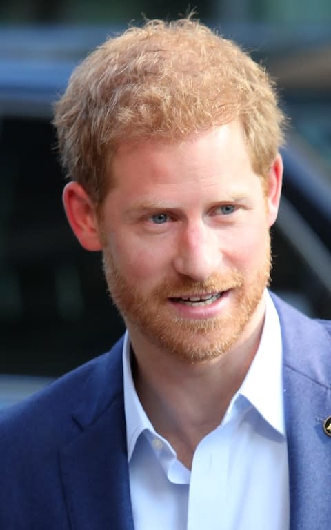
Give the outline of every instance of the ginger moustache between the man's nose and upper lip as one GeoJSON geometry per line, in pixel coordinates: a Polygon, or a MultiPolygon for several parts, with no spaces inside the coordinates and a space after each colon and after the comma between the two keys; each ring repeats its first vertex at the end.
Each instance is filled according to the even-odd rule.
{"type": "Polygon", "coordinates": [[[189,277],[165,280],[154,290],[154,295],[167,298],[179,298],[182,296],[197,296],[202,294],[222,293],[243,285],[244,278],[238,271],[230,271],[226,274],[214,273],[204,282],[196,282],[189,277]]]}

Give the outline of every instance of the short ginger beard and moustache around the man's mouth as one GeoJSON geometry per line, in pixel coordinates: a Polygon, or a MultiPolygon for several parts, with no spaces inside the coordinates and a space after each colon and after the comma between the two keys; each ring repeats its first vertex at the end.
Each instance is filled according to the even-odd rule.
{"type": "Polygon", "coordinates": [[[271,270],[270,238],[261,268],[248,279],[238,271],[215,273],[206,282],[178,277],[163,281],[148,295],[139,291],[115,266],[106,246],[103,269],[110,295],[126,325],[135,328],[148,342],[179,360],[196,363],[212,360],[228,352],[243,333],[256,311],[271,270]],[[188,319],[176,314],[169,299],[201,293],[230,291],[231,303],[221,315],[188,319]]]}

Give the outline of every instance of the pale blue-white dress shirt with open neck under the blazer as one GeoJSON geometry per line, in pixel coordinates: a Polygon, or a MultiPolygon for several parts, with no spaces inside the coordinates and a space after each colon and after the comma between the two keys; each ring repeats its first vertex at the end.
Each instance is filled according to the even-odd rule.
{"type": "Polygon", "coordinates": [[[265,303],[259,349],[221,424],[199,442],[191,471],[139,402],[126,333],[123,382],[135,530],[289,528],[281,329],[267,291],[265,303]]]}

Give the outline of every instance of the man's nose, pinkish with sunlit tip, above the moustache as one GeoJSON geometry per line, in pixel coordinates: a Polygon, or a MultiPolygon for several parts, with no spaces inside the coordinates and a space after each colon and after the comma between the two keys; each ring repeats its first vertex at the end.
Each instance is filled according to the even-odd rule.
{"type": "Polygon", "coordinates": [[[219,269],[221,259],[219,237],[210,226],[201,220],[183,228],[174,257],[177,273],[203,282],[219,269]]]}

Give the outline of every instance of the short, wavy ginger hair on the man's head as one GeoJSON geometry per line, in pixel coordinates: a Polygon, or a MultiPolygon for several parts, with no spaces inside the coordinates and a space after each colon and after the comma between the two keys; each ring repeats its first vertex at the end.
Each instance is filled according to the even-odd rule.
{"type": "Polygon", "coordinates": [[[90,53],[55,104],[54,124],[66,176],[100,206],[121,142],[176,141],[235,119],[265,176],[283,141],[274,83],[237,44],[188,17],[147,21],[90,53]]]}

